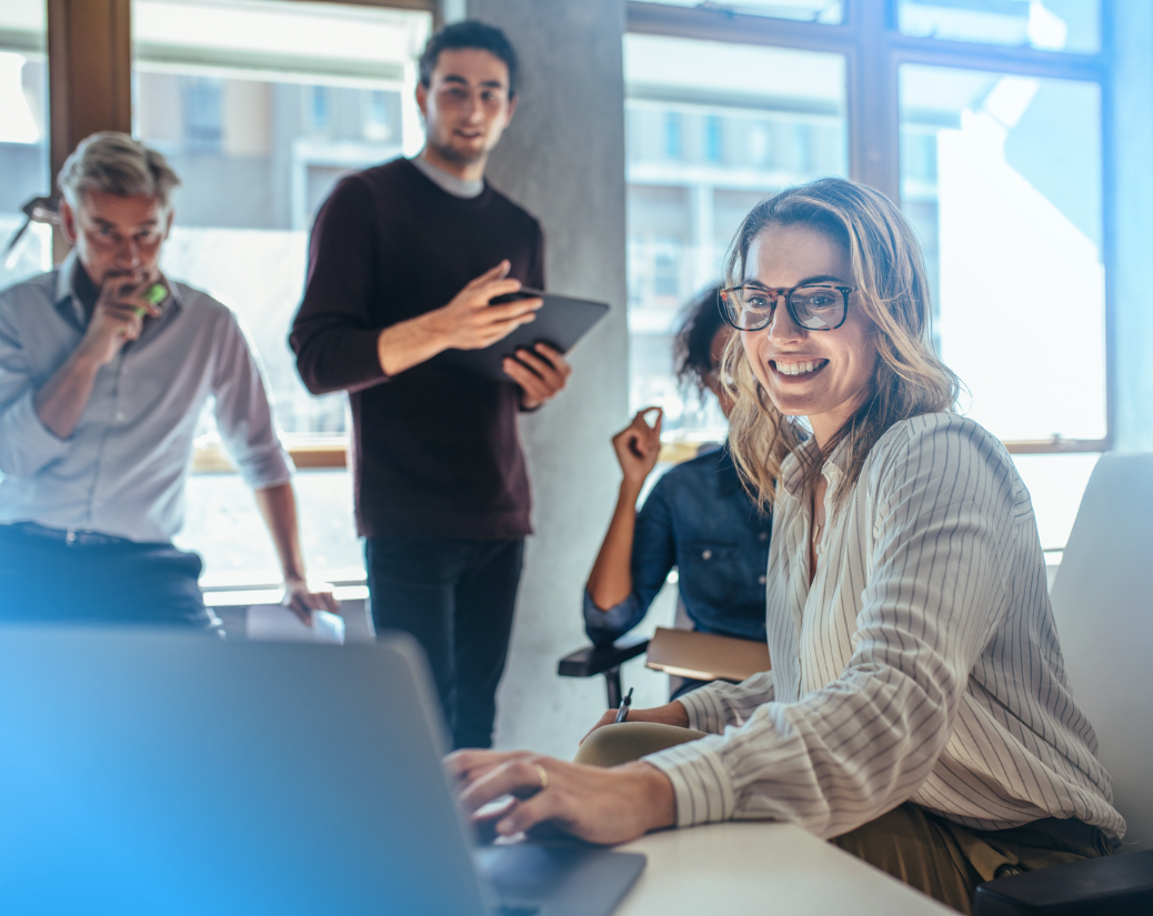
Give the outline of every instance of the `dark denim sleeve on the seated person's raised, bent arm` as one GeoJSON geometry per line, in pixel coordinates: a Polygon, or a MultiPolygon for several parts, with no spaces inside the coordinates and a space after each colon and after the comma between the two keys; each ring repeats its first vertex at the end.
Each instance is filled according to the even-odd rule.
{"type": "Polygon", "coordinates": [[[661,484],[656,482],[636,513],[628,560],[633,590],[623,601],[602,611],[585,589],[585,633],[596,645],[609,645],[645,619],[677,561],[671,508],[661,484]]]}

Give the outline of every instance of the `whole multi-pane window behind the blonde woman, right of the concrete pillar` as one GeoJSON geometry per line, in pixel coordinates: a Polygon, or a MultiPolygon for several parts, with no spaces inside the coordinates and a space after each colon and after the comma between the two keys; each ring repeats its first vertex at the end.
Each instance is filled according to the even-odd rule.
{"type": "Polygon", "coordinates": [[[664,406],[673,440],[717,437],[672,378],[677,309],[752,203],[851,175],[918,229],[959,407],[1018,455],[1060,548],[1110,446],[1101,17],[1098,0],[628,3],[634,408],[664,406]]]}

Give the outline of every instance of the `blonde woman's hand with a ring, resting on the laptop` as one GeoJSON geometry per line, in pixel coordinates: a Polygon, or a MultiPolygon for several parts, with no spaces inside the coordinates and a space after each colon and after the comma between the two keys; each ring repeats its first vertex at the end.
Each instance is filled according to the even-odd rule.
{"type": "Polygon", "coordinates": [[[528,751],[459,750],[445,758],[445,766],[482,833],[512,836],[548,824],[611,845],[677,820],[672,782],[643,762],[602,769],[528,751]],[[505,796],[505,805],[480,810],[505,796]]]}

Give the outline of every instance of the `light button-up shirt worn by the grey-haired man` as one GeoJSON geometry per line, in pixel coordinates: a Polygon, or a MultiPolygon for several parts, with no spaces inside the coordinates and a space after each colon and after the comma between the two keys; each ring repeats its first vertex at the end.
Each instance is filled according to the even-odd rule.
{"type": "Polygon", "coordinates": [[[291,479],[259,366],[232,311],[169,281],[159,318],[100,368],[73,434],[58,438],[33,399],[80,345],[88,316],[59,270],[0,293],[0,524],[168,542],[184,520],[184,477],[201,410],[246,483],[291,479]]]}

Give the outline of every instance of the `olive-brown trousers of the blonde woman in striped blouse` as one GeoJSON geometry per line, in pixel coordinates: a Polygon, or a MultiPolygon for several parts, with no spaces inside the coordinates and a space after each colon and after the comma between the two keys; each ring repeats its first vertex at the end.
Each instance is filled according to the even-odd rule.
{"type": "MultiPolygon", "coordinates": [[[[617,766],[703,736],[692,728],[621,722],[589,735],[574,762],[617,766]]],[[[1113,851],[1101,831],[1076,819],[1046,818],[1022,827],[979,831],[912,802],[829,842],[965,914],[972,913],[981,881],[1113,851]]]]}

